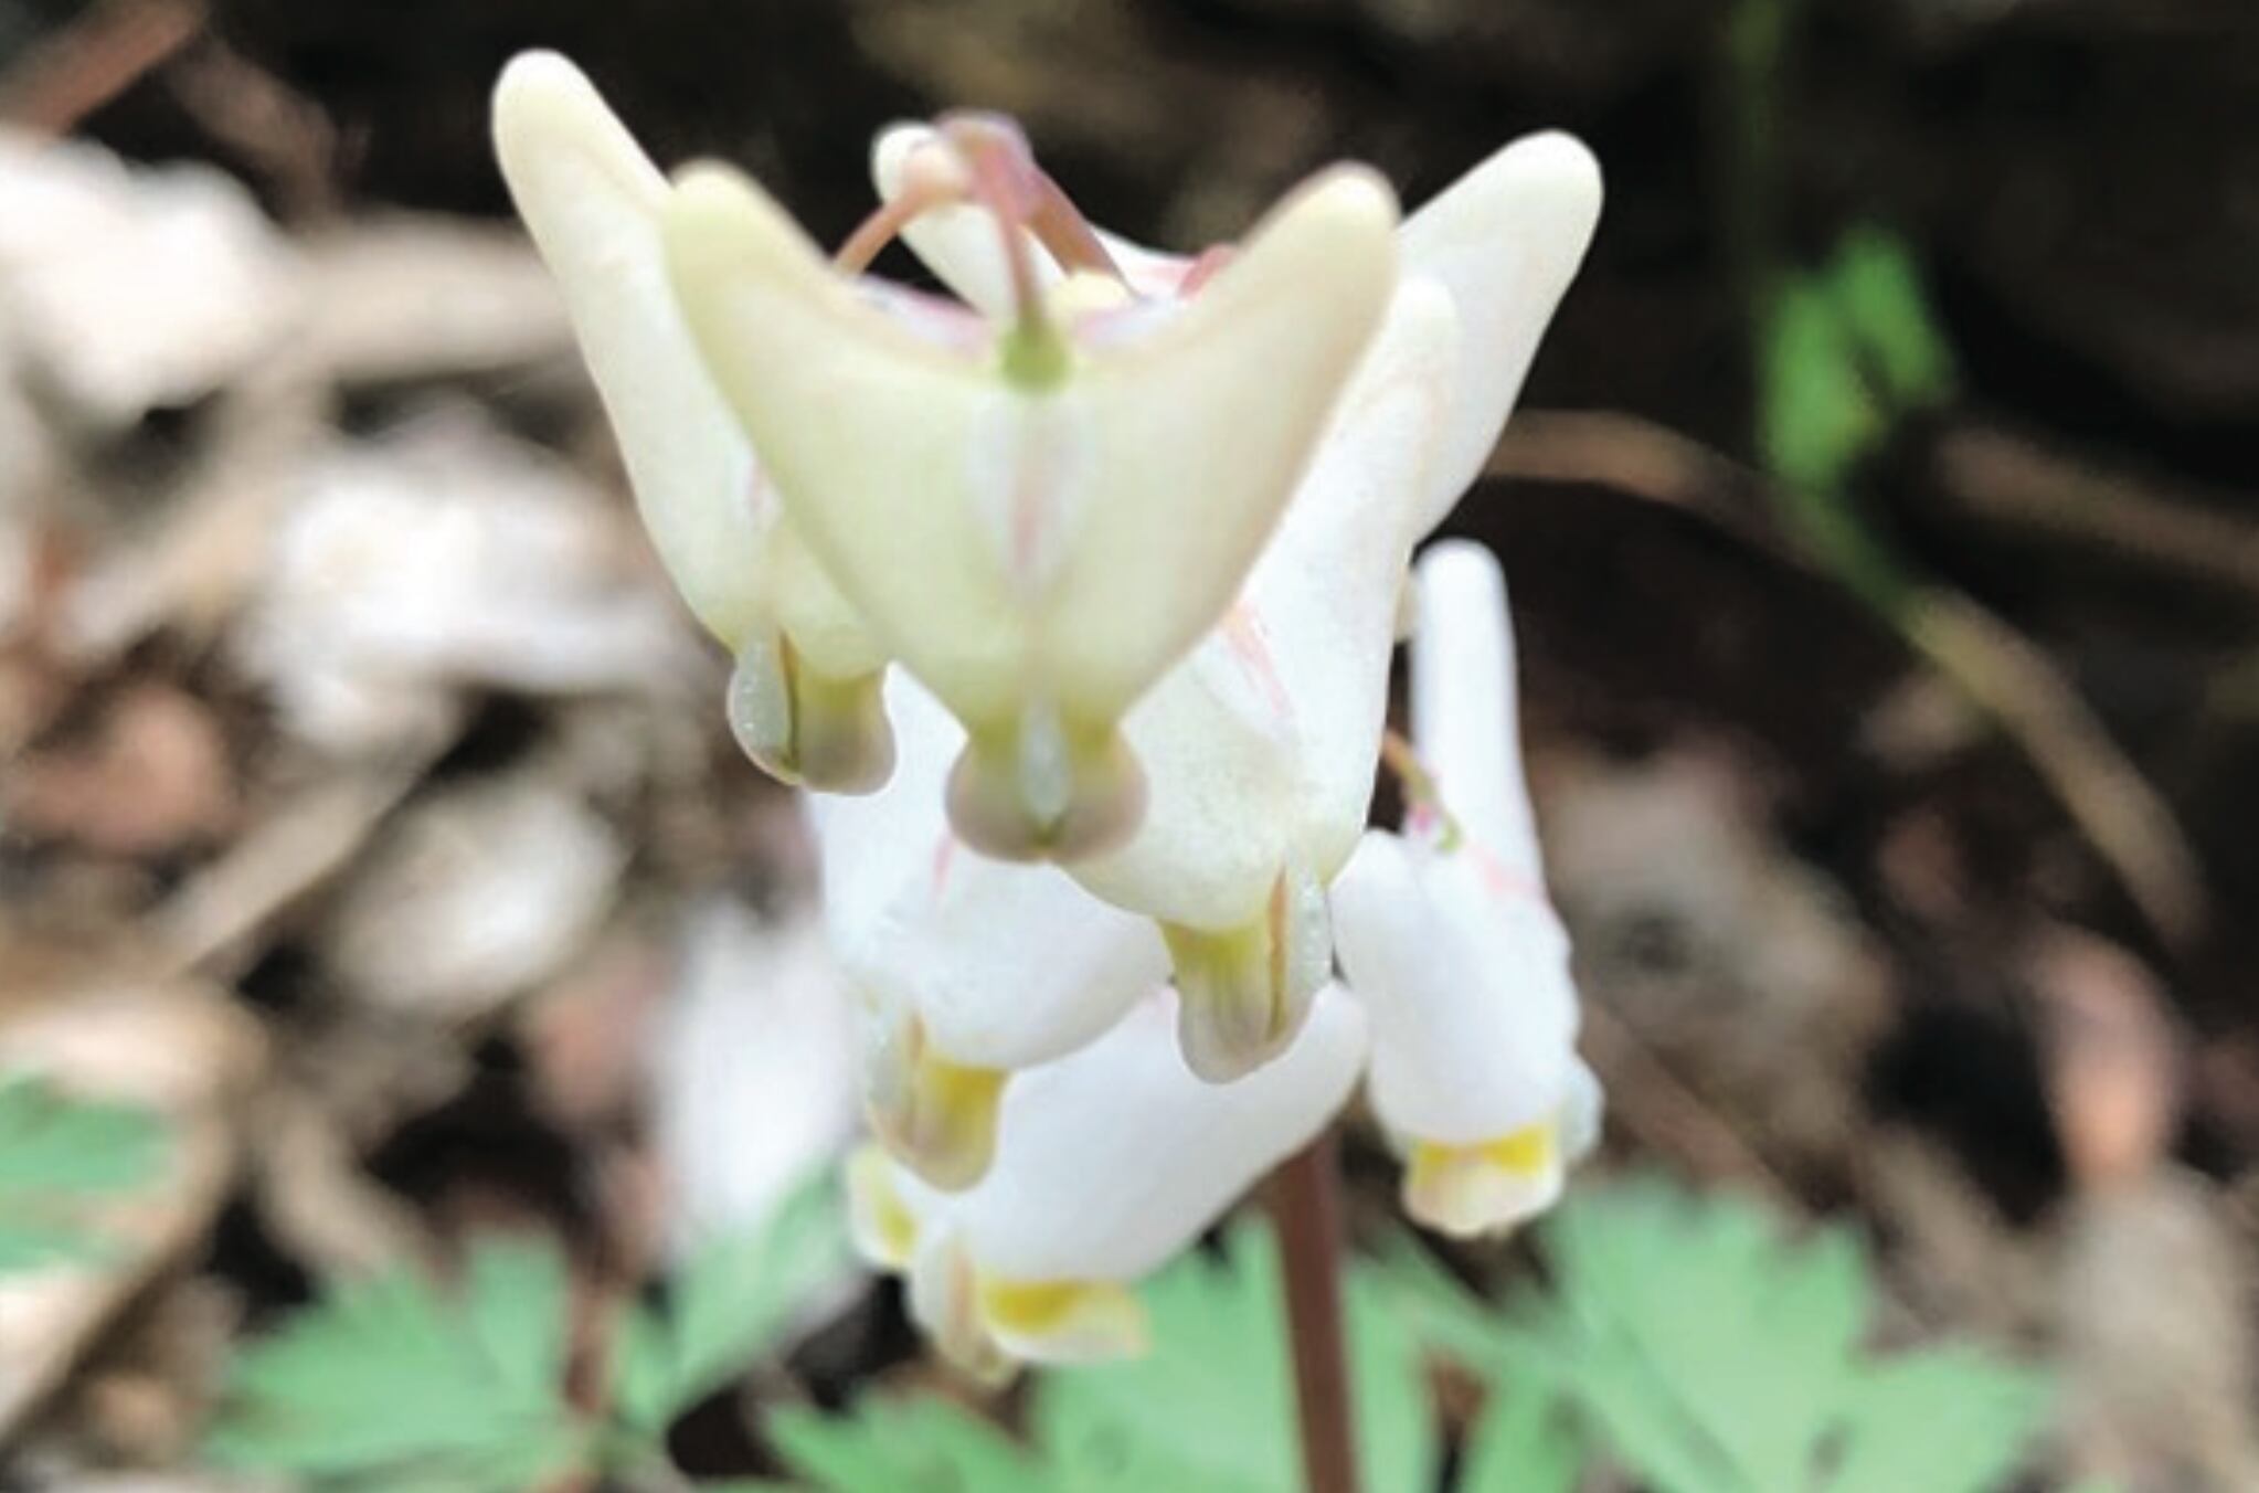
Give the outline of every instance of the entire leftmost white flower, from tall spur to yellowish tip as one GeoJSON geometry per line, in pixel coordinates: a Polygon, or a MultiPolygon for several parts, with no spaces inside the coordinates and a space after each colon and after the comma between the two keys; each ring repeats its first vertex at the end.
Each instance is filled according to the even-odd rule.
{"type": "Polygon", "coordinates": [[[886,653],[800,544],[691,343],[660,242],[666,178],[553,52],[504,70],[495,151],[565,294],[660,560],[736,655],[739,741],[786,782],[876,788],[892,763],[886,653]]]}

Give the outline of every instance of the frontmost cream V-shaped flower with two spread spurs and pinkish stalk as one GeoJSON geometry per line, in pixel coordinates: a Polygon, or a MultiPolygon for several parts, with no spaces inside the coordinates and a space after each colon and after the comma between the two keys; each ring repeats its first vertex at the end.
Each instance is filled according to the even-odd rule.
{"type": "Polygon", "coordinates": [[[996,215],[1010,318],[849,280],[721,167],[664,203],[669,269],[809,549],[965,723],[958,831],[1071,861],[1136,827],[1120,718],[1285,508],[1392,294],[1396,206],[1337,167],[1197,296],[1134,300],[1096,273],[1037,282],[1017,224],[1055,187],[1008,126],[937,142],[922,181],[996,215]]]}

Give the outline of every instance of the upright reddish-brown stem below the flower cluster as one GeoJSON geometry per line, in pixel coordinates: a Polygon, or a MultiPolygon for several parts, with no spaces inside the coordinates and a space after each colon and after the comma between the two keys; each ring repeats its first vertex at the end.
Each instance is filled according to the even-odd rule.
{"type": "Polygon", "coordinates": [[[1290,1156],[1270,1184],[1285,1263],[1288,1339],[1308,1493],[1358,1493],[1349,1342],[1342,1335],[1342,1199],[1333,1132],[1290,1156]]]}

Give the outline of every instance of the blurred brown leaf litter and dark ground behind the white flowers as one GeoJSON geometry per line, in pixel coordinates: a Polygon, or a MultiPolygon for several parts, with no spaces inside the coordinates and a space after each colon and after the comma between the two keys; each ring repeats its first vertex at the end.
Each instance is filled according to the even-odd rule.
{"type": "MultiPolygon", "coordinates": [[[[0,1285],[0,1486],[185,1461],[239,1335],[477,1229],[628,1294],[854,1127],[797,815],[506,215],[526,45],[827,242],[960,104],[1177,248],[1584,136],[1450,531],[1514,587],[1597,1165],[1857,1224],[1891,1330],[2053,1369],[2047,1486],[2259,1488],[2236,0],[0,0],[0,1062],[174,1134],[129,1249],[0,1285]]],[[[827,1290],[793,1394],[926,1373],[827,1290]]],[[[675,1439],[761,1466],[727,1403],[675,1439]]]]}

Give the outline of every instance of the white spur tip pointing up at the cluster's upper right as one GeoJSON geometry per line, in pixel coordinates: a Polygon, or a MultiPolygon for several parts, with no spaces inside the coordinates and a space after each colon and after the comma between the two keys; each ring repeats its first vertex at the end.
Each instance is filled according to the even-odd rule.
{"type": "Polygon", "coordinates": [[[1599,165],[1561,133],[1500,149],[1403,226],[1403,273],[1439,280],[1459,309],[1459,377],[1421,531],[1482,472],[1545,323],[1593,242],[1599,165]]]}

